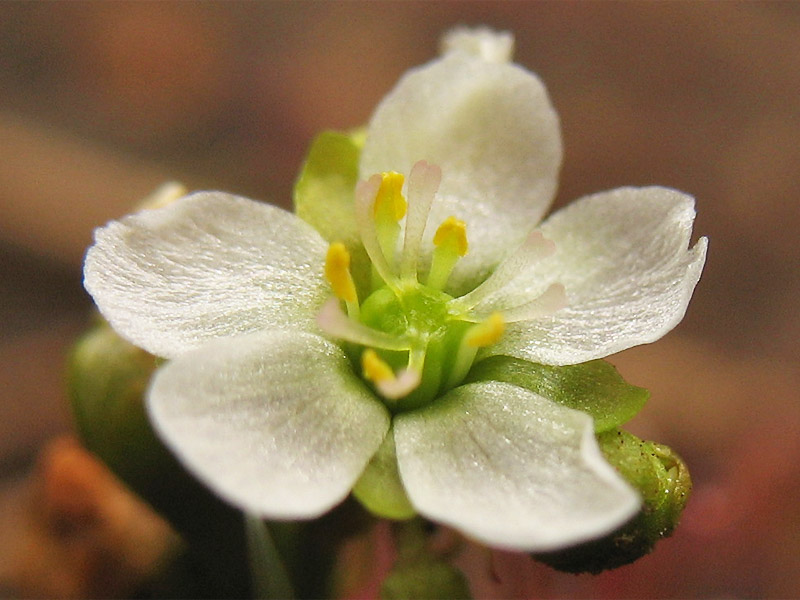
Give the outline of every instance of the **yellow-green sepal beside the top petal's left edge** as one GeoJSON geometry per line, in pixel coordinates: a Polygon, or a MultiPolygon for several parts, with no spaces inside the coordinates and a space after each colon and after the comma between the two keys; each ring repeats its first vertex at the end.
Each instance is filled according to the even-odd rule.
{"type": "Polygon", "coordinates": [[[294,186],[295,213],[328,242],[342,242],[347,247],[350,270],[360,292],[369,289],[371,274],[354,208],[365,137],[361,129],[317,135],[294,186]]]}

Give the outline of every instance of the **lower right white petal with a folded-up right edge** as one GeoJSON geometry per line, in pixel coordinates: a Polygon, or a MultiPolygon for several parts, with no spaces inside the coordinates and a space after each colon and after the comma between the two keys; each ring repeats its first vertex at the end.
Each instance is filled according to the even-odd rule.
{"type": "Polygon", "coordinates": [[[395,418],[414,507],[494,547],[548,551],[606,534],[639,497],[605,461],[588,415],[500,382],[395,418]]]}

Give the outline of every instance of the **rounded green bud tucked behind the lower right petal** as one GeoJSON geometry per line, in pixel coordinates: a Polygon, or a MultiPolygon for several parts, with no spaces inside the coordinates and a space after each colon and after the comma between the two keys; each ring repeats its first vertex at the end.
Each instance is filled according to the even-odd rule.
{"type": "Polygon", "coordinates": [[[642,495],[642,510],[615,532],[566,550],[534,555],[569,573],[599,573],[638,560],[678,524],[692,489],[686,465],[670,448],[612,430],[598,436],[606,459],[642,495]]]}

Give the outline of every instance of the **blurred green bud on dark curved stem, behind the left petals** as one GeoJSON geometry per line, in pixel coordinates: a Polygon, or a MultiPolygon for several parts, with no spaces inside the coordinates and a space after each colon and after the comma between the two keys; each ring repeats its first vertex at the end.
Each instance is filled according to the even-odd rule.
{"type": "Polygon", "coordinates": [[[144,392],[157,359],[98,319],[68,359],[72,411],[83,444],[189,543],[189,596],[249,595],[241,515],[192,477],[158,439],[144,392]]]}

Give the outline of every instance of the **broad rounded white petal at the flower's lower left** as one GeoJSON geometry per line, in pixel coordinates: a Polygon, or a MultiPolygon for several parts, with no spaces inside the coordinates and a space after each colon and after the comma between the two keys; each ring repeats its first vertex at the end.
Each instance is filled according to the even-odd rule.
{"type": "Polygon", "coordinates": [[[312,518],[350,491],[389,427],[338,346],[307,333],[212,342],[167,363],[148,397],[157,431],[235,506],[312,518]]]}

